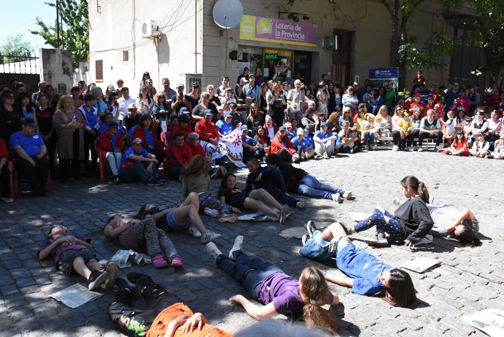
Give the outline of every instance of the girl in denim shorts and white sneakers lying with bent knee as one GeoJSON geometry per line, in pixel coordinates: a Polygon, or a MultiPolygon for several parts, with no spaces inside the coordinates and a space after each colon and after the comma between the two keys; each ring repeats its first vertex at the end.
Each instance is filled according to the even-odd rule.
{"type": "Polygon", "coordinates": [[[156,207],[153,204],[145,204],[140,207],[135,218],[142,220],[153,218],[156,221],[157,228],[168,233],[188,229],[189,233],[195,238],[201,238],[202,243],[220,238],[220,234],[210,232],[205,228],[200,215],[198,215],[199,209],[198,195],[191,193],[178,208],[168,208],[168,206],[156,207]]]}

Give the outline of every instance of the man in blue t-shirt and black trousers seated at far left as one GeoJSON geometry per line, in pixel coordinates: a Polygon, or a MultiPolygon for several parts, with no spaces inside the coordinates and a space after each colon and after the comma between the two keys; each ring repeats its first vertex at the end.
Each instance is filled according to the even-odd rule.
{"type": "Polygon", "coordinates": [[[32,119],[27,119],[21,126],[21,131],[11,136],[12,156],[16,159],[16,168],[25,176],[26,181],[36,195],[47,193],[47,172],[49,161],[45,157],[47,148],[42,137],[35,132],[37,125],[32,119]]]}

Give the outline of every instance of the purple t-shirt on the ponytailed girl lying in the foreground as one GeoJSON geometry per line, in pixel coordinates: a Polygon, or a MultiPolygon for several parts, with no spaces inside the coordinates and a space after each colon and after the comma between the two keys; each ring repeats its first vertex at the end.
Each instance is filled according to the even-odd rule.
{"type": "Polygon", "coordinates": [[[261,304],[273,302],[279,314],[296,314],[303,310],[304,303],[298,292],[299,281],[283,272],[266,277],[259,288],[258,301],[261,304]]]}

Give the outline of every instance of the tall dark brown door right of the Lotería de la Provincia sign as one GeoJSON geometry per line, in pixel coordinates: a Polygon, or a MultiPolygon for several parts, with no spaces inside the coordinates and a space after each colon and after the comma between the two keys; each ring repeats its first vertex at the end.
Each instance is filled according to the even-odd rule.
{"type": "Polygon", "coordinates": [[[338,50],[333,50],[332,52],[333,66],[331,79],[333,82],[341,85],[342,88],[346,88],[350,83],[350,54],[352,52],[353,32],[335,29],[333,34],[338,35],[338,50]]]}

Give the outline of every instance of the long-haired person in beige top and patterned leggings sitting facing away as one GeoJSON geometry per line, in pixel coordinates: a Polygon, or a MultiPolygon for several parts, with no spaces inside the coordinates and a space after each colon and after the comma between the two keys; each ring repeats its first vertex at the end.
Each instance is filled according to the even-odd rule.
{"type": "MultiPolygon", "coordinates": [[[[224,176],[227,172],[223,166],[219,168],[224,176]]],[[[231,206],[226,205],[218,198],[209,194],[210,191],[210,175],[205,157],[196,155],[191,161],[182,168],[180,172],[182,179],[183,196],[191,193],[198,195],[198,202],[200,204],[199,211],[203,210],[205,214],[218,217],[219,222],[235,222],[238,217],[232,213],[231,206]]]]}

